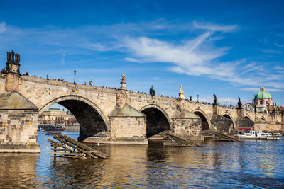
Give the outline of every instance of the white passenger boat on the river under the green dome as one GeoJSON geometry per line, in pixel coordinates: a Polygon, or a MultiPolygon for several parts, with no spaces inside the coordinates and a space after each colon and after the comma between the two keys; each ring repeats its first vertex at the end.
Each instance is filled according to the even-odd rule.
{"type": "Polygon", "coordinates": [[[240,140],[278,140],[281,135],[272,135],[271,133],[263,133],[261,130],[251,130],[248,133],[239,134],[240,140]]]}

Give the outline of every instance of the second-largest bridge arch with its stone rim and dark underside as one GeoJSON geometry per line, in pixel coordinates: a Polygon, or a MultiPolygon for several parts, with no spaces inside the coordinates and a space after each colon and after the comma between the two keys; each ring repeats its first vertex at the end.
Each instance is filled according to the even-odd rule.
{"type": "Polygon", "coordinates": [[[140,109],[146,117],[146,136],[152,137],[165,130],[171,130],[171,122],[168,114],[156,104],[149,104],[140,109]]]}

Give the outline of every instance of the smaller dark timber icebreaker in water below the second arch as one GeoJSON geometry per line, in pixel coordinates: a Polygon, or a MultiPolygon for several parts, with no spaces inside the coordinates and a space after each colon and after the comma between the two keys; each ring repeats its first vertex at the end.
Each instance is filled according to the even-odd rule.
{"type": "Polygon", "coordinates": [[[190,142],[188,140],[182,139],[180,137],[177,137],[173,134],[164,133],[163,134],[163,141],[165,145],[172,145],[172,146],[185,146],[185,147],[200,147],[197,144],[194,144],[193,142],[190,142]]]}

